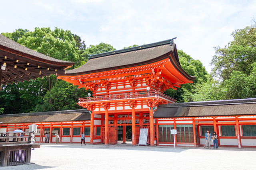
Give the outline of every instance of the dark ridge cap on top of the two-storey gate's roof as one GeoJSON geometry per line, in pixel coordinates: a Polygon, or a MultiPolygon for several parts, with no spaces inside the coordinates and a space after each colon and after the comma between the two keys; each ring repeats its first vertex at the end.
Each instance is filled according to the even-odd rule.
{"type": "Polygon", "coordinates": [[[139,46],[130,47],[127,49],[120,49],[120,50],[110,51],[110,52],[106,52],[106,53],[94,54],[94,55],[90,55],[89,59],[95,59],[98,57],[104,57],[104,56],[108,56],[108,55],[114,55],[114,54],[130,52],[130,51],[147,49],[147,48],[156,47],[156,46],[160,46],[160,45],[166,45],[166,44],[170,44],[170,46],[172,46],[172,44],[174,44],[174,43],[172,43],[173,42],[172,40],[173,39],[167,39],[164,41],[159,41],[156,43],[150,43],[150,44],[145,44],[145,45],[139,45],[139,46]]]}

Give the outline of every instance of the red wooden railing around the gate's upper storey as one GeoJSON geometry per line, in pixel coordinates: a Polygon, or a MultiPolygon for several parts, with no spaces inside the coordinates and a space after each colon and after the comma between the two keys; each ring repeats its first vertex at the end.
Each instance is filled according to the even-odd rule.
{"type": "Polygon", "coordinates": [[[94,101],[102,101],[102,100],[120,100],[120,99],[128,99],[128,98],[163,98],[165,100],[168,100],[170,102],[176,102],[176,99],[171,98],[170,96],[167,96],[159,91],[141,91],[141,92],[126,92],[126,93],[120,93],[120,94],[104,94],[104,95],[98,95],[88,98],[79,98],[78,103],[83,102],[94,102],[94,101]]]}

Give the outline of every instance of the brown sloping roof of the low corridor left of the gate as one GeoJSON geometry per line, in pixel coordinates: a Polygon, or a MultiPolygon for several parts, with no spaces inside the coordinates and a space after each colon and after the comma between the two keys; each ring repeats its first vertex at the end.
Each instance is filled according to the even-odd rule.
{"type": "Polygon", "coordinates": [[[36,123],[90,120],[87,109],[0,115],[2,123],[36,123]]]}

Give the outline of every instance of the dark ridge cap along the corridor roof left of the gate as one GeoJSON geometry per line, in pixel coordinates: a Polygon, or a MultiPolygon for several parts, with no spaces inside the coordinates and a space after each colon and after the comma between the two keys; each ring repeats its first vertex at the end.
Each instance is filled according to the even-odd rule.
{"type": "Polygon", "coordinates": [[[20,116],[54,115],[54,114],[70,114],[70,113],[85,113],[85,112],[89,112],[89,111],[87,109],[44,111],[44,112],[33,112],[33,113],[7,114],[7,115],[0,115],[0,117],[20,117],[20,116]]]}

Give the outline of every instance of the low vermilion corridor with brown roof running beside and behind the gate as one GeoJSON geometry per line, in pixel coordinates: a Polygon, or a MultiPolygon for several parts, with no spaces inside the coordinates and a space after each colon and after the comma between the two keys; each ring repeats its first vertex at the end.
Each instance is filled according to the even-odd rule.
{"type": "MultiPolygon", "coordinates": [[[[208,129],[211,133],[217,132],[221,147],[256,147],[255,109],[255,98],[159,105],[154,113],[154,140],[159,146],[173,146],[174,139],[170,130],[177,129],[177,146],[199,147],[204,145],[204,135],[208,129]]],[[[55,142],[56,132],[60,134],[61,143],[80,143],[82,131],[85,132],[86,143],[90,143],[90,116],[86,109],[0,115],[0,121],[3,122],[0,125],[0,133],[16,129],[27,132],[28,125],[33,123],[38,125],[36,143],[44,143],[46,132],[51,134],[50,143],[55,142]]],[[[94,115],[94,144],[105,141],[103,122],[103,116],[94,115]]],[[[109,117],[110,139],[112,136],[116,137],[115,123],[120,131],[123,131],[121,134],[125,143],[126,126],[132,125],[132,115],[123,113],[109,117]]],[[[136,139],[140,128],[149,127],[149,113],[136,113],[136,139]]]]}

